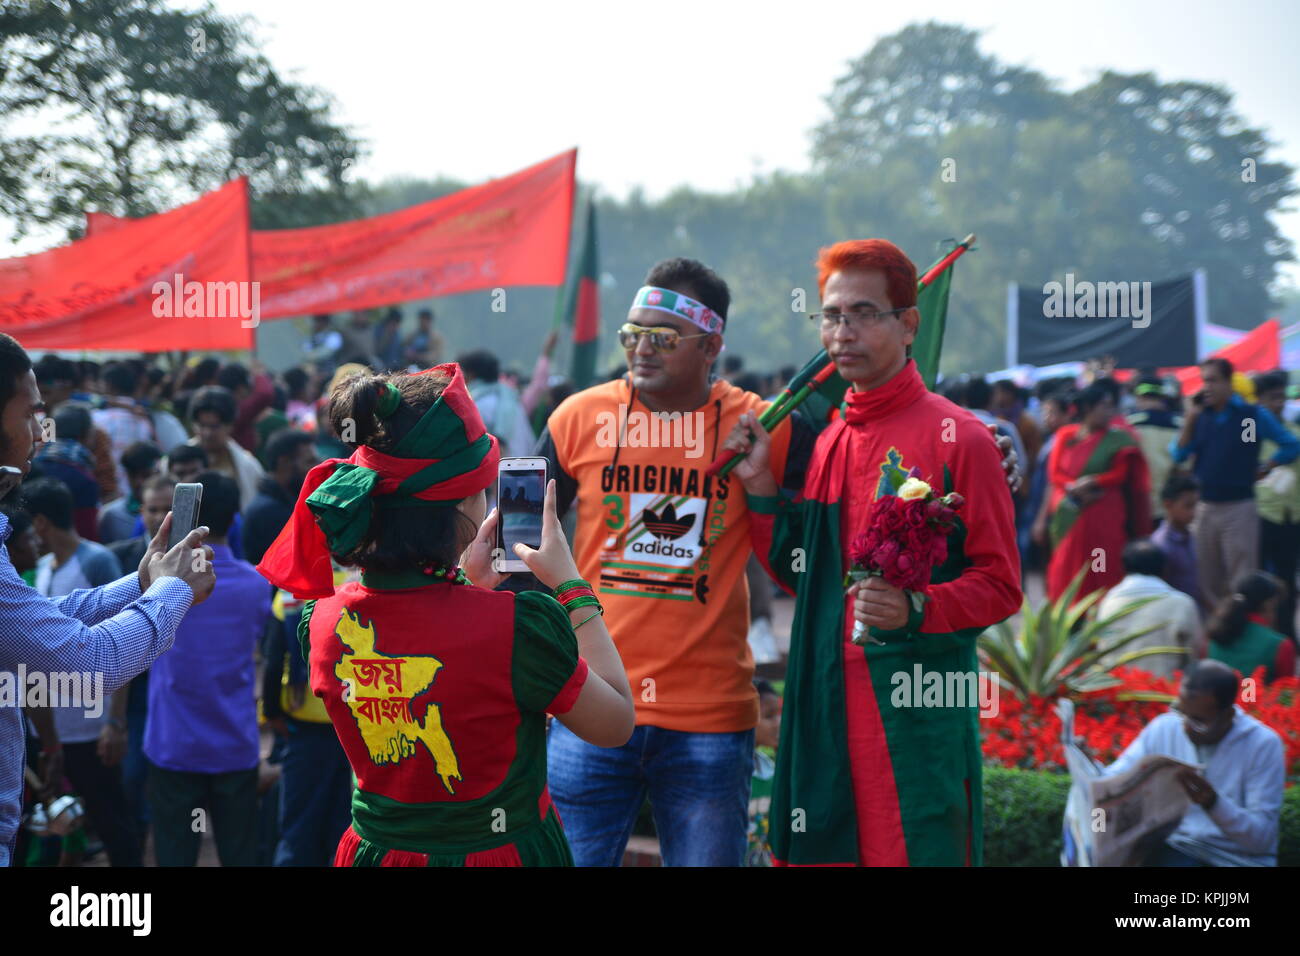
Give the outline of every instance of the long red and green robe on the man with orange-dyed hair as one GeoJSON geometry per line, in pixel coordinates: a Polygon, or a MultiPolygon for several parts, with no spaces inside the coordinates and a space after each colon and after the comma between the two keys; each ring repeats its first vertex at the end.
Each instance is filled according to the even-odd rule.
{"type": "Polygon", "coordinates": [[[777,865],[979,865],[975,641],[1020,605],[1011,496],[988,429],[926,390],[915,363],[849,392],[797,501],[750,496],[754,550],[796,594],[770,840],[777,865]],[[849,542],[893,468],[966,505],[920,610],[853,644],[849,542]],[[945,693],[932,695],[940,680],[945,693]],[[968,697],[948,698],[965,687],[968,697]]]}

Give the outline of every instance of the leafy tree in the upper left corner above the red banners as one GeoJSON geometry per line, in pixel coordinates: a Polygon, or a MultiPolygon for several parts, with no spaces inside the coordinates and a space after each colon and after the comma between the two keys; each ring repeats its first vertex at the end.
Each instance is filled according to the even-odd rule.
{"type": "Polygon", "coordinates": [[[0,212],[79,234],[247,176],[254,225],[354,212],[358,143],[318,90],[281,77],[242,18],[161,0],[0,7],[0,212]],[[39,133],[31,133],[39,130],[39,133]]]}

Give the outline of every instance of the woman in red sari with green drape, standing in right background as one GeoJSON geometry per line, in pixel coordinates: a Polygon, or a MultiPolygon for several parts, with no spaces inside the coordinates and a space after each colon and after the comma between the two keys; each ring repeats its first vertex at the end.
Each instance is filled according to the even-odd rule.
{"type": "Polygon", "coordinates": [[[1150,533],[1150,475],[1138,440],[1115,421],[1114,385],[1095,381],[1075,407],[1080,421],[1061,428],[1048,458],[1053,601],[1083,567],[1078,597],[1118,584],[1124,545],[1150,533]]]}

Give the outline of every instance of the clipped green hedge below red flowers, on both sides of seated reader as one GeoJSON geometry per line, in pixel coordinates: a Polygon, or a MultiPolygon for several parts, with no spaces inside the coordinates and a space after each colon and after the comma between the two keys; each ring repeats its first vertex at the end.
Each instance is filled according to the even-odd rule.
{"type": "MultiPolygon", "coordinates": [[[[1069,774],[984,767],[984,865],[1060,866],[1069,774]]],[[[1300,787],[1282,797],[1278,866],[1300,866],[1300,787]]]]}

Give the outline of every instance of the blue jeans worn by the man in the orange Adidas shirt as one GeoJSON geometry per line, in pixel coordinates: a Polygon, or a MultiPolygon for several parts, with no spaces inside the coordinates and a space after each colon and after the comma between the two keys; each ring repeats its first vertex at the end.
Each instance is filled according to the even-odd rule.
{"type": "Polygon", "coordinates": [[[618,866],[646,793],[664,866],[741,866],[754,731],[637,727],[595,747],[551,721],[547,779],[578,866],[618,866]]]}

